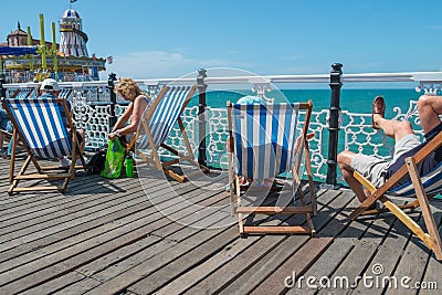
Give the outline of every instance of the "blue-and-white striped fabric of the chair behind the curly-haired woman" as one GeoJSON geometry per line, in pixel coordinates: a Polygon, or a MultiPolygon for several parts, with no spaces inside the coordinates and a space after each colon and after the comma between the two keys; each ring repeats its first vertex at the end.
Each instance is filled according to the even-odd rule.
{"type": "MultiPolygon", "coordinates": [[[[183,109],[185,103],[187,103],[191,89],[191,86],[169,86],[162,95],[155,112],[148,119],[149,130],[156,147],[166,141],[183,109]]],[[[139,149],[149,148],[146,135],[137,144],[139,149]]]]}

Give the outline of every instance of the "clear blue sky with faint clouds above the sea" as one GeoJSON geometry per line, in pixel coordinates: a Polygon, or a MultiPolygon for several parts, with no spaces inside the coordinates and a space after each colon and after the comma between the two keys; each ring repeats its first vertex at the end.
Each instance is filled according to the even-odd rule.
{"type": "MultiPolygon", "coordinates": [[[[45,35],[69,0],[2,1],[0,38],[29,25],[45,35]]],[[[77,0],[88,53],[107,72],[176,77],[200,67],[260,75],[442,71],[441,0],[77,0]]],[[[57,42],[60,34],[56,32],[57,42]]]]}

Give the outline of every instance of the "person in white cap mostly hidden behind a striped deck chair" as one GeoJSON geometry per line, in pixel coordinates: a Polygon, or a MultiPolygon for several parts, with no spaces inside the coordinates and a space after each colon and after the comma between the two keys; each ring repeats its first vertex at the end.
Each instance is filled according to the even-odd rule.
{"type": "MultiPolygon", "coordinates": [[[[60,85],[59,83],[53,80],[53,78],[45,78],[42,84],[40,85],[40,89],[39,89],[39,94],[40,97],[56,97],[60,93],[60,85]]],[[[69,109],[71,109],[71,102],[66,101],[66,106],[69,109]]],[[[61,110],[61,116],[63,118],[64,125],[66,126],[66,128],[69,128],[69,123],[67,123],[67,115],[64,114],[64,110],[61,110]]],[[[76,130],[76,138],[78,139],[80,143],[80,150],[83,155],[84,151],[84,130],[82,129],[77,129],[76,130]]],[[[69,167],[71,166],[71,160],[67,159],[66,157],[61,157],[59,158],[60,160],[60,166],[61,167],[69,167]]],[[[85,162],[87,162],[87,160],[85,159],[85,162]]],[[[81,160],[78,159],[76,165],[81,165],[81,160]]]]}

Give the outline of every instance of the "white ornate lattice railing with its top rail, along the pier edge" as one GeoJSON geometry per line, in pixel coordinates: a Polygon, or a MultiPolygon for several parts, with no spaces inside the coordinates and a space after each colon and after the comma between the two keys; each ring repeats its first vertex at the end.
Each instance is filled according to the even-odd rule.
{"type": "MultiPolygon", "coordinates": [[[[273,88],[273,85],[287,83],[322,83],[328,84],[330,75],[278,75],[278,76],[263,76],[256,80],[251,76],[230,76],[230,77],[206,77],[203,85],[235,85],[251,86],[256,95],[265,96],[265,93],[273,88]]],[[[187,85],[194,84],[194,77],[187,77],[180,80],[151,80],[151,81],[137,81],[145,89],[155,96],[155,93],[160,86],[168,83],[176,82],[185,83],[187,85]]],[[[417,91],[421,89],[428,94],[435,94],[442,88],[442,73],[428,72],[428,73],[385,73],[385,74],[343,74],[343,83],[352,82],[406,82],[419,83],[417,91]]],[[[110,81],[112,82],[112,81],[110,81]]],[[[117,82],[116,82],[117,83],[117,82]]],[[[112,84],[112,83],[110,83],[112,84]]],[[[65,98],[72,102],[73,118],[78,128],[85,130],[86,147],[95,149],[107,143],[107,135],[109,133],[109,117],[112,114],[112,85],[108,81],[99,82],[82,82],[82,83],[61,83],[65,92],[65,98]],[[110,85],[110,86],[109,86],[110,85]]],[[[0,85],[2,95],[11,97],[18,93],[28,93],[29,96],[36,95],[38,83],[22,83],[22,84],[2,84],[0,85]],[[22,92],[20,92],[20,89],[22,92]],[[19,91],[19,92],[18,92],[19,91]]],[[[201,85],[199,85],[201,86],[201,85]]],[[[273,92],[273,91],[272,91],[273,92]]],[[[119,116],[127,107],[126,104],[120,104],[122,97],[118,97],[119,103],[115,104],[115,115],[119,116]]],[[[115,99],[113,101],[115,103],[115,99]]],[[[197,154],[199,146],[199,127],[201,122],[198,114],[198,106],[189,107],[185,110],[182,119],[187,128],[191,147],[197,154]]],[[[335,108],[336,110],[336,108],[335,108]]],[[[419,116],[417,114],[417,102],[411,101],[408,109],[399,107],[393,108],[394,118],[399,120],[409,120],[419,135],[420,130],[419,116]]],[[[334,115],[334,113],[333,113],[334,115]]],[[[225,108],[208,107],[204,114],[206,129],[207,129],[207,160],[210,166],[225,167],[227,165],[227,148],[225,140],[228,137],[228,122],[225,108]]],[[[336,119],[336,116],[334,116],[336,119]]],[[[371,128],[371,114],[350,113],[343,110],[340,113],[340,130],[338,133],[338,150],[349,149],[355,152],[371,154],[382,158],[390,158],[393,146],[392,139],[386,138],[381,131],[371,128]]],[[[314,176],[318,180],[325,180],[327,175],[327,157],[328,143],[329,143],[329,109],[313,112],[309,124],[309,133],[315,133],[315,137],[309,141],[312,165],[314,176]]],[[[336,133],[335,133],[336,134],[336,133]]],[[[171,131],[169,136],[169,145],[172,145],[180,151],[185,151],[183,141],[180,136],[178,126],[171,131]]],[[[170,156],[162,154],[162,156],[170,156]]],[[[339,175],[338,175],[339,177],[339,175]]]]}

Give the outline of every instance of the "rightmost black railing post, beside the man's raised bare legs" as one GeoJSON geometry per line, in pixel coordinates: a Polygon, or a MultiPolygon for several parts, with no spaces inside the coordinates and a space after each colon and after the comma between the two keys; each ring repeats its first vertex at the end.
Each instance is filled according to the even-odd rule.
{"type": "Polygon", "coordinates": [[[343,75],[343,64],[334,63],[330,72],[330,88],[332,99],[329,108],[329,122],[328,122],[328,160],[327,160],[327,179],[326,186],[328,188],[337,188],[337,151],[338,151],[338,137],[339,137],[339,116],[340,116],[340,88],[343,75]]]}

